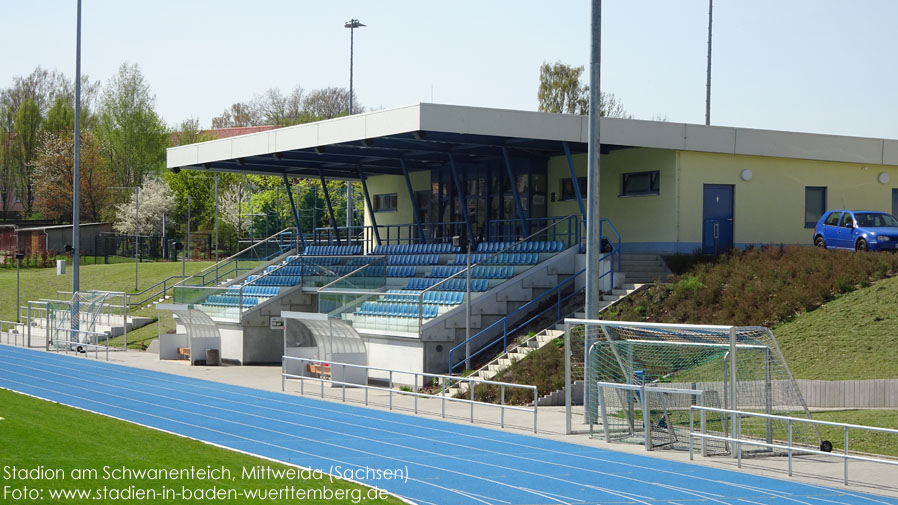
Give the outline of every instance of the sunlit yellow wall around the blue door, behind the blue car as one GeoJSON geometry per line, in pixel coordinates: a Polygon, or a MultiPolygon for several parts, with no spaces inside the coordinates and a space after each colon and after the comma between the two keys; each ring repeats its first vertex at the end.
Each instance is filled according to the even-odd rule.
{"type": "MultiPolygon", "coordinates": [[[[828,209],[892,211],[898,167],[765,156],[678,151],[680,241],[701,243],[705,184],[732,184],[733,235],[741,244],[811,244],[804,227],[805,187],[826,187],[828,209]],[[751,170],[750,181],[740,174],[751,170]],[[886,172],[889,184],[878,176],[886,172]]],[[[604,192],[603,192],[604,193],[604,192]]]]}

